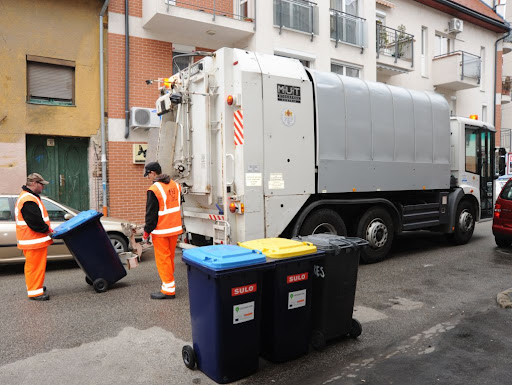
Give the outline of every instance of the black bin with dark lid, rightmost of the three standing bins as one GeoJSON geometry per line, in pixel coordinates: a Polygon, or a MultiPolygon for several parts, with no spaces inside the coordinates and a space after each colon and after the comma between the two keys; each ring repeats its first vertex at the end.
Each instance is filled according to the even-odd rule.
{"type": "Polygon", "coordinates": [[[368,242],[333,234],[295,238],[325,251],[313,269],[313,330],[311,344],[323,349],[330,340],[349,335],[357,338],[362,328],[352,318],[361,248],[368,242]]]}

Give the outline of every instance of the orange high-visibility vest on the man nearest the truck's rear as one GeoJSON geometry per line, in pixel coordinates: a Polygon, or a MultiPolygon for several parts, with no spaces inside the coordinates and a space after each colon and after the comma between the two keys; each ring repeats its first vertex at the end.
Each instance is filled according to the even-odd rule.
{"type": "Polygon", "coordinates": [[[174,181],[155,182],[148,190],[153,191],[158,199],[158,223],[151,236],[170,237],[181,234],[181,186],[174,181]]]}

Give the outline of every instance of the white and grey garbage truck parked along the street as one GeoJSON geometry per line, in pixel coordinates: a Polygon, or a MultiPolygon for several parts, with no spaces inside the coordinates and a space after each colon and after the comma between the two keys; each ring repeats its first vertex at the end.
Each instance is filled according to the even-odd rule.
{"type": "Polygon", "coordinates": [[[146,161],[183,185],[183,247],[333,233],[372,263],[404,231],[465,244],[492,218],[495,129],[439,94],[232,48],[160,90],[146,161]]]}

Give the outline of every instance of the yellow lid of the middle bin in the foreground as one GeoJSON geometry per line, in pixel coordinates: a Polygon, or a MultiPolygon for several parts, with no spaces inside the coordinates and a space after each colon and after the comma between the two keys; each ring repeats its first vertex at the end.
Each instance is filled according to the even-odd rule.
{"type": "Polygon", "coordinates": [[[238,242],[238,246],[261,251],[266,257],[280,259],[299,257],[316,253],[316,246],[309,242],[293,241],[285,238],[263,238],[238,242]]]}

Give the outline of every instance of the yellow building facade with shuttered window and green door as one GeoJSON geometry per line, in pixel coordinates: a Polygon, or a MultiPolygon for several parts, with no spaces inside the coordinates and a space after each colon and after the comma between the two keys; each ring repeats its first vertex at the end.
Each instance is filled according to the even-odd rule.
{"type": "Polygon", "coordinates": [[[50,181],[48,195],[63,203],[86,190],[87,201],[93,197],[101,6],[99,0],[0,3],[0,193],[19,192],[27,173],[41,172],[50,181]]]}

